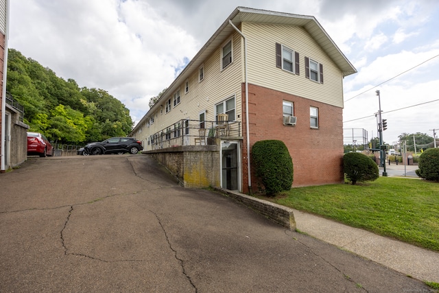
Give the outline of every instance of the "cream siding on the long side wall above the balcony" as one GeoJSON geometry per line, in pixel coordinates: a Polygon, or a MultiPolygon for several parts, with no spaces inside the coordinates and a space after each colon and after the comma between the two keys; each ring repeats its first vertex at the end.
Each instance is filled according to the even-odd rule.
{"type": "Polygon", "coordinates": [[[170,96],[161,101],[163,114],[161,115],[160,108],[154,113],[154,124],[147,127],[147,122],[145,122],[143,126],[137,126],[139,130],[134,133],[134,137],[143,141],[145,150],[151,150],[151,146],[146,143],[147,137],[171,126],[176,121],[181,119],[198,120],[199,113],[204,110],[207,110],[206,121],[214,121],[215,104],[233,95],[235,95],[235,113],[237,115],[235,120],[241,121],[241,83],[244,81],[241,65],[241,37],[236,33],[230,37],[233,37],[233,63],[221,70],[221,47],[218,47],[209,58],[204,60],[204,80],[202,82],[198,82],[198,68],[189,77],[188,93],[185,93],[185,80],[182,80],[180,104],[176,107],[173,106],[169,113],[165,113],[165,101],[170,98],[173,105],[174,93],[169,93],[170,96]]]}

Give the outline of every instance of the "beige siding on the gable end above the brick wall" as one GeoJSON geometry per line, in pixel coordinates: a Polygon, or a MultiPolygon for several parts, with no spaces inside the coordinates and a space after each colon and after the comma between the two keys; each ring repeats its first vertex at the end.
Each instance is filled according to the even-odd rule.
{"type": "Polygon", "coordinates": [[[242,30],[247,37],[249,83],[343,107],[342,72],[305,29],[243,23],[242,30]],[[276,43],[298,51],[300,75],[276,67],[276,43]],[[323,84],[305,78],[305,56],[323,65],[323,84]]]}

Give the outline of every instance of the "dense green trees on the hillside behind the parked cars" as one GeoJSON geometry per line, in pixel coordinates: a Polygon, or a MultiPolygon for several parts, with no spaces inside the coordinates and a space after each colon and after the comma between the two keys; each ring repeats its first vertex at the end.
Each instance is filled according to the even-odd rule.
{"type": "Polygon", "coordinates": [[[84,144],[126,137],[132,130],[130,110],[107,91],[59,78],[15,49],[8,51],[6,91],[23,106],[29,131],[50,141],[84,144]]]}

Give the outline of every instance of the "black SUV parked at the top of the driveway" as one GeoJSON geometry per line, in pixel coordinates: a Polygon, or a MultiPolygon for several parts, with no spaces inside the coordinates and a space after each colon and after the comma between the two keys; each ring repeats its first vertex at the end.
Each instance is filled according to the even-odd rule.
{"type": "MultiPolygon", "coordinates": [[[[143,150],[142,142],[132,137],[112,137],[100,143],[88,143],[81,154],[137,154],[143,150]]],[[[79,154],[79,152],[78,152],[79,154]]]]}

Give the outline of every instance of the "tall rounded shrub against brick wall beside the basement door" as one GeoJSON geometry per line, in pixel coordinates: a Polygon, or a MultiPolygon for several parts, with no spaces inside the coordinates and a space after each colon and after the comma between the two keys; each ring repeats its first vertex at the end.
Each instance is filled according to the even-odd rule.
{"type": "Polygon", "coordinates": [[[252,159],[268,196],[291,189],[293,161],[283,141],[257,141],[252,146],[252,159]]]}

